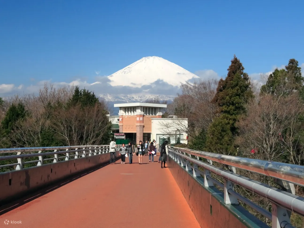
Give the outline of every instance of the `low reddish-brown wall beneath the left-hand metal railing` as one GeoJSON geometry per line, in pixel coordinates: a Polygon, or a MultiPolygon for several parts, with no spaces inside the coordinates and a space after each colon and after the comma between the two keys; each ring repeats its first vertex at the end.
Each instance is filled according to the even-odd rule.
{"type": "MultiPolygon", "coordinates": [[[[117,152],[117,159],[120,158],[117,152]]],[[[91,168],[109,163],[110,153],[71,159],[0,174],[0,204],[91,168]]]]}

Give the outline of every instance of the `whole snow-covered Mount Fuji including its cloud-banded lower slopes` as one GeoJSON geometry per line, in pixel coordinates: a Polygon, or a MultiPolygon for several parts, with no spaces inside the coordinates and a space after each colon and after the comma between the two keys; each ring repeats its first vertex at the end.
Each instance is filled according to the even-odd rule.
{"type": "MultiPolygon", "coordinates": [[[[135,63],[108,76],[108,83],[115,88],[115,95],[100,94],[106,101],[144,102],[152,98],[173,100],[182,83],[199,77],[181,66],[157,56],[143,57],[135,63]],[[123,88],[135,92],[125,94],[123,88]],[[160,89],[163,87],[163,90],[160,89]],[[166,88],[170,87],[170,91],[166,88]],[[117,89],[116,89],[117,88],[117,89]],[[156,90],[156,88],[158,90],[156,90]],[[170,94],[171,93],[171,94],[170,94]]],[[[95,82],[93,84],[98,84],[95,82]]]]}

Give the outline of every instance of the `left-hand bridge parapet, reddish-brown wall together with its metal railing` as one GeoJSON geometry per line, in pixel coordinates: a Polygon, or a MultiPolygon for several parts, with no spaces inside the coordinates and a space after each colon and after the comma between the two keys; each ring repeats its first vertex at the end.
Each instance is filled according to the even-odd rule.
{"type": "Polygon", "coordinates": [[[109,145],[0,149],[0,204],[109,159],[109,145]]]}

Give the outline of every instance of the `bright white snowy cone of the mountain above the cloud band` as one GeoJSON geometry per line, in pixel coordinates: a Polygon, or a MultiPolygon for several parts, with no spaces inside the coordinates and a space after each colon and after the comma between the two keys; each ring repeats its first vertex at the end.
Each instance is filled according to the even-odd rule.
{"type": "Polygon", "coordinates": [[[199,78],[181,66],[157,56],[144,57],[108,77],[111,86],[131,87],[149,85],[157,80],[180,86],[192,78],[199,78]]]}

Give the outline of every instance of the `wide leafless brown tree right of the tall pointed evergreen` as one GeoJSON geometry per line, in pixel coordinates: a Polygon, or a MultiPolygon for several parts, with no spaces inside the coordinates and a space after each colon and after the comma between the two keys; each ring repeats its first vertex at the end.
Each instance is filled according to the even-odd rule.
{"type": "Polygon", "coordinates": [[[252,102],[248,106],[247,116],[237,124],[237,143],[243,156],[273,161],[283,159],[282,154],[287,148],[292,154],[295,140],[293,129],[301,113],[302,105],[297,94],[287,97],[265,95],[259,102],[252,102]],[[288,128],[292,128],[291,133],[284,139],[283,133],[288,128]]]}

